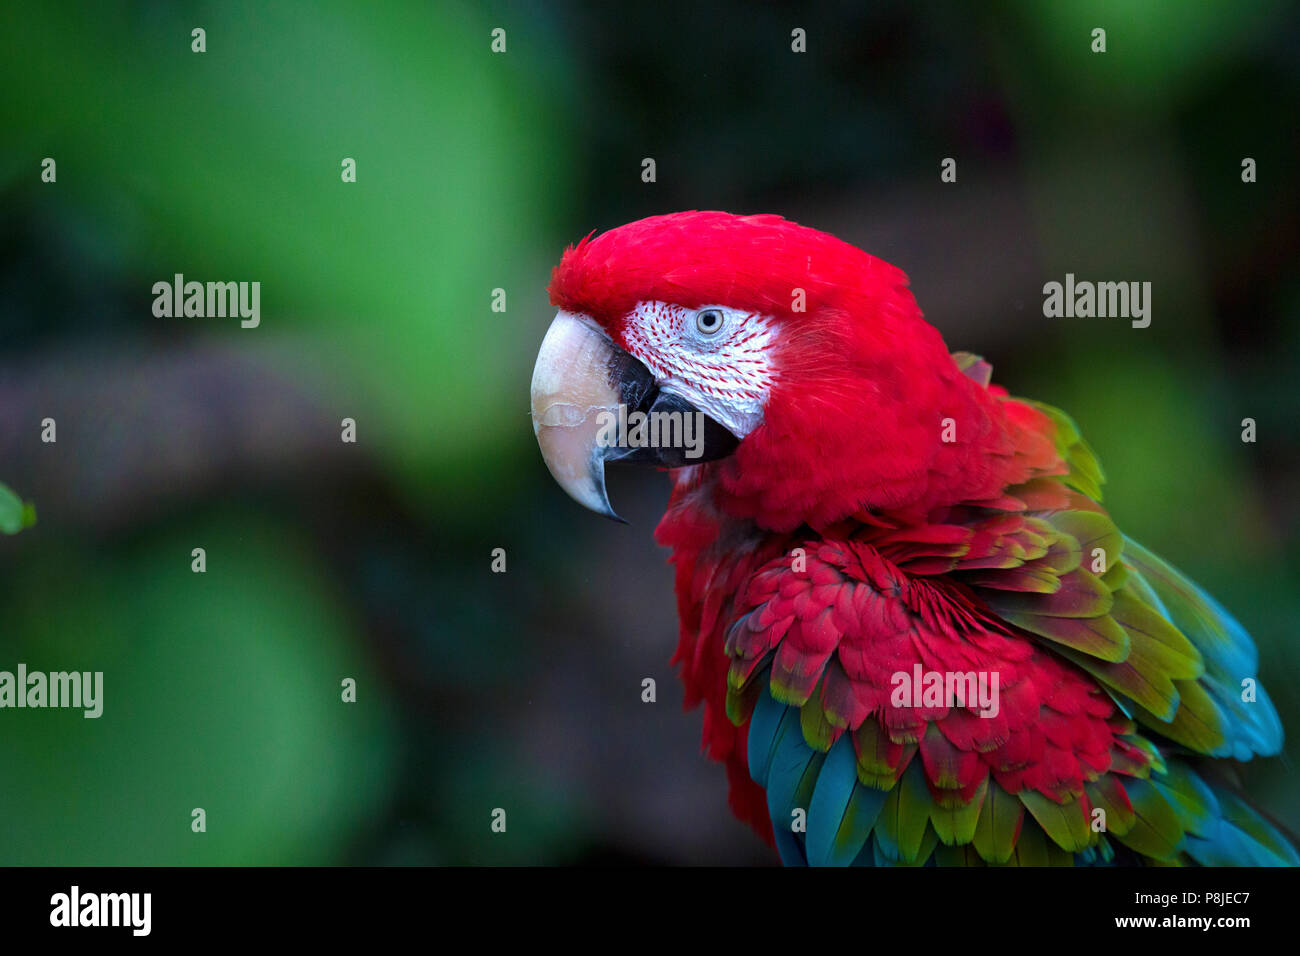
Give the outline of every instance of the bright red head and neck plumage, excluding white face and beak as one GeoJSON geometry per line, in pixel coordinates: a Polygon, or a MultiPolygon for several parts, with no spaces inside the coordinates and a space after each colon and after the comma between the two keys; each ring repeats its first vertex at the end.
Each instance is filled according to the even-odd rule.
{"type": "Polygon", "coordinates": [[[641,302],[780,323],[763,424],[731,458],[702,466],[720,506],[764,527],[922,515],[1063,471],[1046,418],[1018,406],[1009,419],[962,373],[901,269],[780,216],[681,212],[588,237],[566,251],[550,295],[624,347],[641,302]],[[949,421],[956,441],[944,440],[949,421]]]}

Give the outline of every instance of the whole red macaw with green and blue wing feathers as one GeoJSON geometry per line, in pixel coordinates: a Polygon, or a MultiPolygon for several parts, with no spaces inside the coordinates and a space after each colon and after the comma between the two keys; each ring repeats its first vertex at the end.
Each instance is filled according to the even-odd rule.
{"type": "Polygon", "coordinates": [[[611,518],[606,462],[671,470],[673,663],[786,864],[1300,862],[1226,766],[1282,745],[1249,635],[900,269],[681,212],[589,235],[549,291],[542,455],[611,518]]]}

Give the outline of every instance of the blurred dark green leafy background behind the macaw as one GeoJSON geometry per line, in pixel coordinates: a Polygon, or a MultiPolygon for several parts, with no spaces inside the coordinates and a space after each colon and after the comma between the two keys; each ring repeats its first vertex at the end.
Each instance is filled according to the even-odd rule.
{"type": "Polygon", "coordinates": [[[1290,757],[1247,787],[1300,829],[1296,116],[1284,3],[5,5],[0,669],[105,700],[0,713],[0,864],[771,862],[667,663],[667,480],[606,523],[528,419],[563,247],[682,208],[893,261],[1075,416],[1256,636],[1290,757]],[[155,317],[177,272],[260,281],[260,328],[155,317]],[[1150,281],[1150,328],[1044,319],[1066,272],[1150,281]]]}

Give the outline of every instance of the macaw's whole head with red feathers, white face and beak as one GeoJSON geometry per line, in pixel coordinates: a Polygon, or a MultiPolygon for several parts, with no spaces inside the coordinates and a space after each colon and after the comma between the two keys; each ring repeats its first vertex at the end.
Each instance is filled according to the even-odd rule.
{"type": "Polygon", "coordinates": [[[618,519],[611,460],[702,466],[722,507],[776,531],[1002,486],[998,403],[904,272],[832,235],[780,216],[655,216],[566,250],[549,291],[533,428],[593,511],[618,519]],[[620,411],[694,416],[697,441],[610,441],[620,411]]]}

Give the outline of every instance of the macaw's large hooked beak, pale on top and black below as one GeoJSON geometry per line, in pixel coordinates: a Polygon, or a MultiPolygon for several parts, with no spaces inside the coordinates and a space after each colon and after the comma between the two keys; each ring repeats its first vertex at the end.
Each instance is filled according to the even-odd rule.
{"type": "Polygon", "coordinates": [[[542,339],[532,399],[533,432],[551,476],[580,505],[616,522],[623,519],[604,489],[606,462],[679,468],[722,458],[737,445],[734,434],[680,395],[660,389],[649,368],[572,312],[559,312],[542,339]],[[637,411],[677,412],[681,421],[693,416],[688,431],[671,432],[689,434],[690,442],[627,444],[618,423],[637,411]]]}

